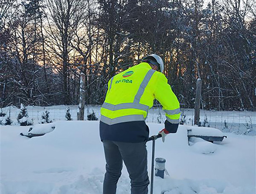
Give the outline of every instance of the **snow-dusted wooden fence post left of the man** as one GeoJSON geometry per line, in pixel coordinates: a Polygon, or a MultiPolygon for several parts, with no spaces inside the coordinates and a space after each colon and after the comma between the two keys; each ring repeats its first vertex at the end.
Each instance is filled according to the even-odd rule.
{"type": "Polygon", "coordinates": [[[78,120],[84,120],[84,103],[85,103],[85,75],[80,74],[80,98],[79,98],[79,118],[78,120]]]}

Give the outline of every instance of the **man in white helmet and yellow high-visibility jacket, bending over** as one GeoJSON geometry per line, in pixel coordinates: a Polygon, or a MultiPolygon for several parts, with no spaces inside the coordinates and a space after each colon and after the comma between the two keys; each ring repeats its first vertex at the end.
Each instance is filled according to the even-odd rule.
{"type": "Polygon", "coordinates": [[[157,99],[166,112],[165,128],[159,132],[163,142],[168,133],[177,131],[180,118],[180,104],[162,73],[163,60],[152,54],[109,80],[99,124],[106,158],[103,194],[116,194],[123,161],[131,179],[131,193],[148,193],[148,110],[157,99]]]}

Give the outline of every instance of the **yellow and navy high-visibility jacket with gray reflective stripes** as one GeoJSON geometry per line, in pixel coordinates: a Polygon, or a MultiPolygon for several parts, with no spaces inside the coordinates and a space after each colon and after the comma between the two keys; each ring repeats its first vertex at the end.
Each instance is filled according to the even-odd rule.
{"type": "Polygon", "coordinates": [[[148,128],[144,127],[146,133],[143,134],[141,131],[137,133],[134,127],[138,126],[143,130],[142,125],[146,126],[144,120],[154,99],[162,104],[166,113],[166,130],[176,132],[180,119],[180,103],[165,75],[152,70],[148,63],[143,62],[113,76],[108,82],[106,99],[101,108],[101,139],[126,142],[146,140],[148,128]],[[134,131],[131,133],[131,130],[134,131]],[[118,138],[118,133],[121,136],[131,133],[131,137],[118,138]],[[136,135],[142,138],[138,139],[136,135]],[[133,141],[133,138],[136,140],[133,141]]]}

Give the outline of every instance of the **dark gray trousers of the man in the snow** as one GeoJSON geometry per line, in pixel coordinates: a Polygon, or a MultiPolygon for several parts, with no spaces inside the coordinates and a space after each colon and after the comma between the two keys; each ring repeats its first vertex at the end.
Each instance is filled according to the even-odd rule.
{"type": "Polygon", "coordinates": [[[116,194],[116,184],[121,176],[123,161],[131,179],[131,194],[148,193],[146,143],[126,143],[103,140],[106,174],[103,194],[116,194]]]}

